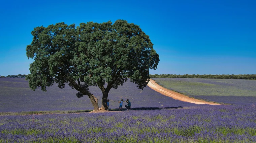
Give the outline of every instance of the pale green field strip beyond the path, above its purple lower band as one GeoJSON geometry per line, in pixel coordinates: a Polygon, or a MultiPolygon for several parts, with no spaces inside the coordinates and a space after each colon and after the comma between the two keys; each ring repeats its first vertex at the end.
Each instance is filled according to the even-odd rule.
{"type": "Polygon", "coordinates": [[[185,95],[254,96],[256,80],[153,78],[159,85],[185,95]],[[206,82],[206,83],[205,83],[206,82]]]}

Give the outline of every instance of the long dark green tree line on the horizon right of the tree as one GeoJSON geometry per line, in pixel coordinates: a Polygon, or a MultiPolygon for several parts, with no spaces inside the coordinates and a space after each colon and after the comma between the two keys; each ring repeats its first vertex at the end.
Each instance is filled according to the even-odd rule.
{"type": "Polygon", "coordinates": [[[254,79],[256,80],[256,74],[184,74],[184,75],[177,75],[177,74],[154,74],[150,75],[150,78],[217,78],[217,79],[254,79]]]}

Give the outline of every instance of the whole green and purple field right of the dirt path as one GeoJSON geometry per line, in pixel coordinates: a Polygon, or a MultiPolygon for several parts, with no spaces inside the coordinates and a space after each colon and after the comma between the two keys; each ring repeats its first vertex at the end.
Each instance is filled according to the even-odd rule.
{"type": "Polygon", "coordinates": [[[159,85],[190,97],[220,103],[256,104],[256,80],[152,78],[159,85]]]}

